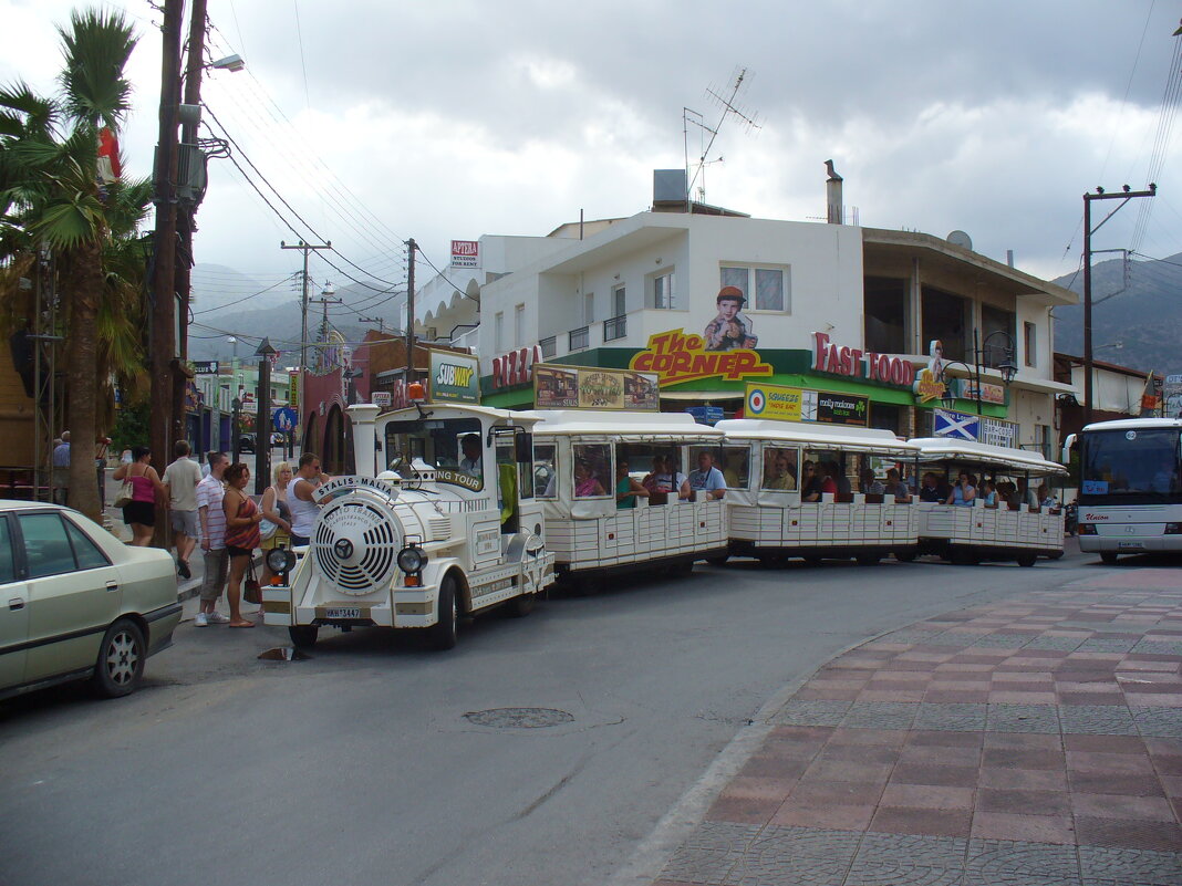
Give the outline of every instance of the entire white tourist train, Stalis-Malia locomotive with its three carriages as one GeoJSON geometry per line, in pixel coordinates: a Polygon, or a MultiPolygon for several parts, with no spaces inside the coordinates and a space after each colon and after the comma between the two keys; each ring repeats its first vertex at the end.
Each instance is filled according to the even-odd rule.
{"type": "Polygon", "coordinates": [[[272,552],[277,584],[264,589],[265,623],[303,647],[322,627],[385,626],[449,649],[465,615],[524,615],[559,579],[589,589],[732,554],[1030,566],[1063,553],[1058,510],[1014,495],[1065,471],[1022,450],[656,411],[415,402],[349,413],[356,475],[317,489],[307,547],[272,552]],[[957,497],[962,473],[1002,493],[957,497]]]}

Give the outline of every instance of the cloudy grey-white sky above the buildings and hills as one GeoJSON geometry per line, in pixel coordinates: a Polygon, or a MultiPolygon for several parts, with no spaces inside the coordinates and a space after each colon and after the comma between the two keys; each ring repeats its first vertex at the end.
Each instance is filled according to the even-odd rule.
{"type": "MultiPolygon", "coordinates": [[[[147,176],[161,15],[105,5],[141,34],[124,154],[147,176]]],[[[53,89],[71,6],[0,0],[0,80],[53,89]]],[[[1083,193],[1160,169],[1142,235],[1135,202],[1095,247],[1163,258],[1182,252],[1182,164],[1160,130],[1180,15],[1176,0],[209,0],[212,56],[248,67],[210,72],[204,99],[307,226],[285,209],[293,233],[214,161],[197,260],[271,282],[299,267],[280,240],[325,237],[383,287],[404,279],[410,236],[442,267],[452,239],[543,235],[580,208],[628,216],[651,202],[654,169],[684,165],[683,108],[719,129],[713,204],[817,220],[832,157],[862,224],[963,229],[1052,278],[1078,267],[1083,193]],[[758,129],[707,93],[729,95],[740,69],[758,129]]],[[[312,273],[348,282],[319,260],[312,273]]]]}

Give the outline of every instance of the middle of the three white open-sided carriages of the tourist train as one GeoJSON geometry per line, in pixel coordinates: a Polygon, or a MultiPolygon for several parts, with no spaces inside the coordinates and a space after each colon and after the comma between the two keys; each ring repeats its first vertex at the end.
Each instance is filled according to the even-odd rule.
{"type": "Polygon", "coordinates": [[[873,428],[756,418],[715,428],[726,434],[727,452],[755,465],[727,490],[732,553],[765,563],[800,556],[871,565],[889,553],[915,556],[915,509],[886,491],[886,471],[914,463],[914,444],[873,428]],[[819,491],[826,475],[837,493],[819,491]],[[875,491],[858,491],[863,477],[875,491]]]}

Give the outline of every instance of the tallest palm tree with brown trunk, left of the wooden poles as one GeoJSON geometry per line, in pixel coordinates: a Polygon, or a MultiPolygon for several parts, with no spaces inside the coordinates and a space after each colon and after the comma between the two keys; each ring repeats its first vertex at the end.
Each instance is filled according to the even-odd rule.
{"type": "Polygon", "coordinates": [[[122,13],[73,12],[59,27],[65,67],[60,96],[38,97],[25,84],[0,90],[0,248],[57,258],[66,332],[67,424],[73,445],[70,503],[100,516],[95,483],[97,324],[108,278],[110,193],[100,189],[98,138],[117,132],[131,85],[123,74],[136,38],[122,13]]]}

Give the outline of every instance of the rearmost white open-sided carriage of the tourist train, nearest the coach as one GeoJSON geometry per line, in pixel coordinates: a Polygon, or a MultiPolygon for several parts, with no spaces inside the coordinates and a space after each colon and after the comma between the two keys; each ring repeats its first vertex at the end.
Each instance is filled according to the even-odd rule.
{"type": "Polygon", "coordinates": [[[1061,464],[1025,449],[953,437],[923,437],[911,443],[920,448],[916,474],[921,483],[921,553],[960,565],[1017,560],[1020,566],[1033,566],[1039,556],[1063,556],[1061,509],[1040,507],[1035,495],[1044,480],[1066,474],[1061,464]],[[998,503],[987,506],[980,494],[969,507],[922,500],[926,475],[940,480],[944,497],[953,495],[962,473],[976,480],[979,493],[986,478],[995,483],[998,503]]]}

